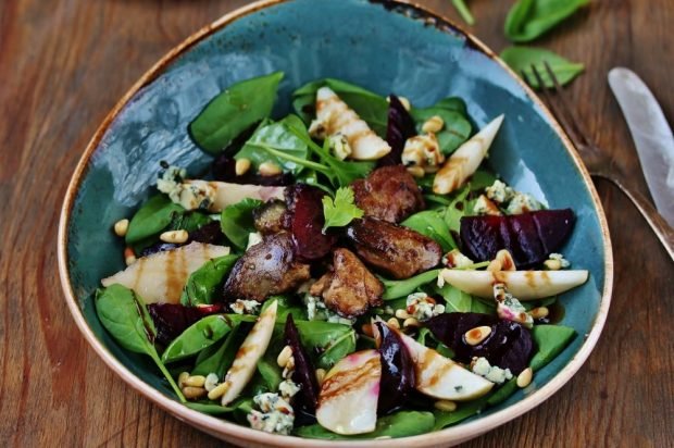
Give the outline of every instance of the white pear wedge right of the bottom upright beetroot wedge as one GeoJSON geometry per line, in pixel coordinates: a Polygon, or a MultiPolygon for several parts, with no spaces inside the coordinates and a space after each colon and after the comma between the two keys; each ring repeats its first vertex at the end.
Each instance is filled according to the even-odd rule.
{"type": "MultiPolygon", "coordinates": [[[[389,327],[391,328],[391,327],[389,327]]],[[[494,383],[462,368],[436,350],[398,332],[407,347],[416,374],[416,390],[440,400],[467,401],[486,395],[494,383]]]]}

